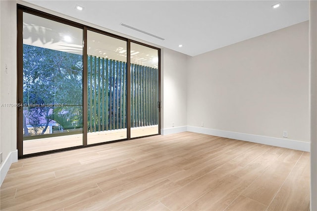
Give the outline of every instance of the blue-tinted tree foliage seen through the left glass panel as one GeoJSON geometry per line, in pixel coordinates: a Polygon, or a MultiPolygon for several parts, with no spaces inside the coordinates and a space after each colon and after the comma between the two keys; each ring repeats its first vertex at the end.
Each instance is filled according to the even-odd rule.
{"type": "MultiPolygon", "coordinates": [[[[23,45],[24,118],[36,133],[42,127],[44,134],[52,120],[63,128],[73,127],[73,121],[82,127],[82,60],[79,54],[23,45]],[[41,123],[40,117],[47,121],[41,123]]],[[[24,131],[28,135],[25,126],[24,131]]]]}

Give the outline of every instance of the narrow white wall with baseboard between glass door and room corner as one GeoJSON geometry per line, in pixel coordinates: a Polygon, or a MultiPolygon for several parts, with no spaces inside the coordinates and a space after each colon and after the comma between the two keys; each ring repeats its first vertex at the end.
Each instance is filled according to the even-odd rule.
{"type": "Polygon", "coordinates": [[[169,49],[162,49],[161,134],[186,131],[187,60],[189,57],[169,49]]]}

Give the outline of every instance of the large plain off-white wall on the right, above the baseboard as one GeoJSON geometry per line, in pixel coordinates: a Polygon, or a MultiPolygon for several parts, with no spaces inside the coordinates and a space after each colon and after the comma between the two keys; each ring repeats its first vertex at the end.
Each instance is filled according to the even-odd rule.
{"type": "Polygon", "coordinates": [[[308,21],[188,61],[189,126],[309,145],[308,21]]]}

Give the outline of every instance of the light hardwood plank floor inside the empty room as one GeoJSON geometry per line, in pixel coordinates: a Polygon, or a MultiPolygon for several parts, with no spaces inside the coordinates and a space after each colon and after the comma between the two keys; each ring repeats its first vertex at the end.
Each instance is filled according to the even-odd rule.
{"type": "Polygon", "coordinates": [[[308,211],[307,152],[184,132],[20,159],[2,211],[308,211]]]}

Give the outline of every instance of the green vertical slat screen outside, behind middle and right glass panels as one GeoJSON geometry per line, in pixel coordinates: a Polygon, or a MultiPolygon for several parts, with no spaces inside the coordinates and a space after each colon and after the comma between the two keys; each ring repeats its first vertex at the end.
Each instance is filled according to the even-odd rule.
{"type": "MultiPolygon", "coordinates": [[[[131,127],[157,125],[158,69],[131,64],[131,127]]],[[[127,63],[88,56],[88,131],[126,128],[127,63]]]]}

